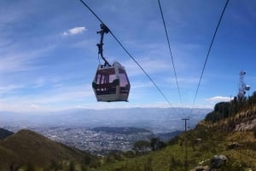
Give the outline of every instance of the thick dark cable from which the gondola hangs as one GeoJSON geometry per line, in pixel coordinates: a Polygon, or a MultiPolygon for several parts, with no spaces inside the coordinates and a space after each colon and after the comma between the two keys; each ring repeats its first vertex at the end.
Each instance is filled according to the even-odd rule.
{"type": "MultiPolygon", "coordinates": [[[[97,20],[99,20],[102,24],[104,24],[104,22],[97,16],[97,14],[96,14],[92,9],[90,9],[90,7],[89,7],[86,3],[84,3],[83,0],[80,0],[80,1],[81,1],[81,3],[84,4],[84,6],[85,6],[87,9],[90,10],[90,12],[91,12],[92,14],[94,14],[94,16],[96,17],[97,20]]],[[[105,24],[104,24],[104,25],[105,25],[105,24]]],[[[107,25],[105,25],[105,26],[107,26],[107,25]]],[[[108,28],[109,28],[109,27],[108,27],[108,28]]],[[[124,45],[119,41],[119,39],[113,34],[113,32],[112,32],[111,30],[109,30],[109,32],[110,32],[110,34],[113,36],[113,38],[119,43],[119,45],[121,46],[121,48],[123,48],[123,49],[125,50],[126,54],[129,55],[129,57],[131,58],[131,60],[133,60],[133,61],[137,64],[137,66],[140,67],[140,69],[141,69],[141,70],[143,71],[143,73],[148,77],[148,79],[150,80],[150,82],[154,84],[154,87],[157,88],[157,90],[158,90],[159,93],[163,96],[163,98],[166,100],[166,102],[168,103],[168,105],[172,106],[171,102],[166,98],[166,95],[160,90],[160,88],[159,88],[158,85],[154,82],[154,80],[153,80],[153,79],[148,75],[148,73],[143,69],[143,66],[141,66],[141,65],[137,62],[137,60],[135,60],[135,58],[129,53],[129,51],[124,47],[124,45]]]]}

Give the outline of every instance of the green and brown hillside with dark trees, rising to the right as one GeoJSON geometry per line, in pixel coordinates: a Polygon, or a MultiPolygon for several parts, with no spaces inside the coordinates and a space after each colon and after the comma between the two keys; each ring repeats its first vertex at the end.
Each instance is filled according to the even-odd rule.
{"type": "MultiPolygon", "coordinates": [[[[195,129],[180,134],[166,148],[147,154],[124,154],[106,157],[97,171],[178,171],[196,166],[210,166],[215,155],[227,161],[216,171],[256,170],[256,94],[243,100],[215,105],[195,129]],[[187,140],[187,141],[186,141],[187,140]],[[187,143],[186,143],[187,142],[187,143]],[[187,144],[187,145],[186,145],[187,144]],[[187,146],[187,148],[186,148],[187,146]],[[187,150],[186,150],[187,149],[187,150]]],[[[200,170],[200,169],[199,169],[200,170]]],[[[207,169],[205,169],[207,170],[207,169]]]]}

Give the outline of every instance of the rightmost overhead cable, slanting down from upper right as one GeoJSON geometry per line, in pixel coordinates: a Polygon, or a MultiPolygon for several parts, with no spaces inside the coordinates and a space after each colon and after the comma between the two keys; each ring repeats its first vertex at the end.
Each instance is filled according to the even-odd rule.
{"type": "Polygon", "coordinates": [[[193,108],[194,108],[194,105],[195,105],[195,100],[196,100],[196,98],[197,98],[198,90],[199,90],[200,85],[201,85],[201,79],[202,79],[203,73],[204,73],[204,71],[205,71],[205,69],[206,69],[206,66],[207,66],[207,60],[208,60],[209,54],[210,54],[211,49],[212,49],[212,44],[213,44],[213,42],[214,42],[214,39],[215,39],[216,34],[217,34],[217,31],[218,31],[218,27],[219,27],[219,25],[220,25],[220,22],[221,22],[223,16],[224,16],[224,12],[225,12],[225,10],[226,10],[226,8],[227,8],[229,2],[230,2],[230,0],[227,0],[226,3],[225,3],[225,5],[224,5],[224,9],[222,10],[222,13],[221,13],[221,15],[220,15],[220,18],[219,18],[219,20],[218,20],[218,25],[217,25],[217,27],[216,27],[216,29],[215,29],[215,31],[214,31],[213,37],[212,37],[212,42],[211,42],[211,44],[210,44],[210,46],[209,46],[209,48],[208,48],[208,51],[207,51],[207,58],[206,58],[206,60],[205,60],[203,69],[202,69],[202,71],[201,71],[201,77],[200,77],[199,83],[198,83],[197,88],[196,88],[196,91],[195,91],[195,98],[194,98],[194,100],[193,100],[193,105],[192,105],[192,107],[191,107],[190,114],[192,113],[193,108]]]}

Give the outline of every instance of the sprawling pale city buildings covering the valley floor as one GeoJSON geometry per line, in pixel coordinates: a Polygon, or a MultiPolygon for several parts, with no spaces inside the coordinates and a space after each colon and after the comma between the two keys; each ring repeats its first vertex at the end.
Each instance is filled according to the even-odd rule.
{"type": "MultiPolygon", "coordinates": [[[[20,127],[5,128],[14,132],[21,129],[20,127]]],[[[150,140],[154,137],[154,134],[142,128],[115,128],[121,130],[119,133],[105,132],[106,128],[31,127],[29,129],[50,140],[98,155],[108,154],[110,151],[131,151],[137,140],[150,140]]]]}

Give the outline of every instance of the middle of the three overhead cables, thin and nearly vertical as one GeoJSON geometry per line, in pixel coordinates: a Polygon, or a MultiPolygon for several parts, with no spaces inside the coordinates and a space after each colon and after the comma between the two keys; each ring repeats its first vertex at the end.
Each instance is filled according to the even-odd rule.
{"type": "MultiPolygon", "coordinates": [[[[173,55],[172,55],[172,49],[171,49],[171,45],[170,45],[170,41],[169,41],[167,29],[166,29],[166,21],[165,21],[165,18],[164,18],[163,10],[162,10],[162,8],[161,8],[160,0],[158,0],[158,4],[159,4],[161,17],[162,17],[163,24],[164,24],[165,31],[166,31],[166,39],[167,39],[167,43],[168,43],[168,47],[169,47],[169,53],[170,53],[170,56],[171,56],[171,59],[172,59],[172,67],[173,67],[174,76],[175,76],[175,79],[176,79],[176,85],[177,85],[177,91],[178,91],[178,96],[179,96],[179,102],[180,102],[181,104],[183,104],[183,103],[182,103],[182,98],[181,98],[181,93],[180,93],[180,88],[179,88],[179,85],[178,85],[178,82],[177,82],[177,71],[176,71],[176,68],[175,68],[175,65],[174,65],[174,60],[173,60],[173,55]]],[[[183,115],[184,115],[184,110],[183,110],[183,115]]]]}

